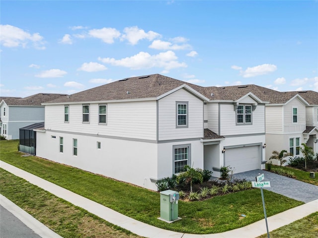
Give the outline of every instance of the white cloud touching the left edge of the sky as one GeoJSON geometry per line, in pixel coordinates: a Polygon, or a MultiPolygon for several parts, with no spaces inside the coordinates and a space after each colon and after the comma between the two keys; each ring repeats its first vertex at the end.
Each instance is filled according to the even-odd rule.
{"type": "Polygon", "coordinates": [[[43,37],[39,33],[30,34],[18,27],[0,25],[0,42],[4,47],[23,47],[29,43],[38,50],[44,50],[43,37]]]}

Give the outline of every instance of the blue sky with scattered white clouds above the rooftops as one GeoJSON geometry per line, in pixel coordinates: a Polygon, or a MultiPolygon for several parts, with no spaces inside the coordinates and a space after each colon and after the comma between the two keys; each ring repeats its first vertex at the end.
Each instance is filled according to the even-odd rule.
{"type": "Polygon", "coordinates": [[[0,95],[160,73],[318,91],[318,1],[0,1],[0,95]]]}

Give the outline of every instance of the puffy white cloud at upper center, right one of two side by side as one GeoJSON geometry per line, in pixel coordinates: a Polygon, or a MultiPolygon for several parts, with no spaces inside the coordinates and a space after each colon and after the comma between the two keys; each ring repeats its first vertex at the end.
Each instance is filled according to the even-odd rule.
{"type": "Polygon", "coordinates": [[[138,28],[137,26],[133,27],[125,27],[124,33],[122,35],[122,39],[126,39],[129,41],[130,44],[136,45],[138,41],[147,39],[152,41],[161,35],[154,31],[145,32],[143,29],[138,28]]]}

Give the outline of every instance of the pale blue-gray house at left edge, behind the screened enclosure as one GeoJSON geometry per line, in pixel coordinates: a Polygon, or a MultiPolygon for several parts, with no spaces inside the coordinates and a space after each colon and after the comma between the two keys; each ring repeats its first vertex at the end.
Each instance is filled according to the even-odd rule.
{"type": "Polygon", "coordinates": [[[6,139],[19,139],[19,128],[44,121],[44,106],[65,94],[38,93],[26,98],[1,97],[1,135],[6,139]]]}

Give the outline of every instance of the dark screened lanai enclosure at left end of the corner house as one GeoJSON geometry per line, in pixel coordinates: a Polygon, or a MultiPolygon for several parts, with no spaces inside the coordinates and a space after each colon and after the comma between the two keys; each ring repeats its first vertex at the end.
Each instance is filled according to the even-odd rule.
{"type": "Polygon", "coordinates": [[[28,153],[30,155],[35,155],[36,131],[34,131],[34,129],[39,129],[42,127],[44,127],[44,122],[34,123],[32,125],[27,125],[20,128],[19,151],[28,153]]]}

